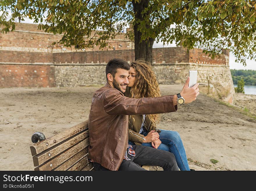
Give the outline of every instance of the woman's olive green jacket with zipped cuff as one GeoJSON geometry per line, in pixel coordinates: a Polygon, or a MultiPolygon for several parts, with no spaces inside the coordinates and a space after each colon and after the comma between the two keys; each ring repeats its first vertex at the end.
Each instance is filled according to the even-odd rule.
{"type": "MultiPolygon", "coordinates": [[[[131,97],[130,88],[126,88],[125,96],[131,97]]],[[[143,122],[143,115],[129,115],[129,140],[134,142],[136,145],[141,145],[145,140],[144,135],[140,134],[141,124],[143,122]]],[[[152,121],[149,119],[149,115],[146,115],[144,121],[144,129],[148,132],[151,130],[160,133],[161,131],[154,126],[152,121]]]]}

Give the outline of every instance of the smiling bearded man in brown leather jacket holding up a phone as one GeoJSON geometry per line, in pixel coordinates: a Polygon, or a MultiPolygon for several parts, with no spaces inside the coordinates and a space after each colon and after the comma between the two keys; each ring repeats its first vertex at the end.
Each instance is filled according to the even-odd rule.
{"type": "MultiPolygon", "coordinates": [[[[94,93],[89,114],[89,158],[96,170],[145,170],[140,165],[178,170],[173,153],[128,145],[128,115],[177,110],[177,95],[140,99],[125,97],[129,69],[130,65],[121,59],[110,60],[106,65],[107,83],[94,93]]],[[[199,94],[198,88],[188,88],[188,80],[181,92],[186,103],[194,101],[199,94]]]]}

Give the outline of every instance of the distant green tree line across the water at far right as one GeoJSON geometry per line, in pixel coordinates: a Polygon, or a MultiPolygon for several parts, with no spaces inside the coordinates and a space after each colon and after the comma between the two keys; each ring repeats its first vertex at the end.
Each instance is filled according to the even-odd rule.
{"type": "Polygon", "coordinates": [[[234,84],[243,79],[244,85],[256,85],[256,70],[236,70],[231,69],[231,75],[234,84]]]}

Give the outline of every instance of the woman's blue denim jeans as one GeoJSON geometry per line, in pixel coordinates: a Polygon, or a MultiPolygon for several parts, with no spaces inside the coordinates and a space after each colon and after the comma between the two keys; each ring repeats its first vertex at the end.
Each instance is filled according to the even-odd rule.
{"type": "MultiPolygon", "coordinates": [[[[159,139],[162,143],[159,145],[158,149],[173,153],[180,170],[190,170],[186,152],[179,133],[177,131],[159,130],[161,130],[159,133],[159,139]]],[[[144,131],[141,134],[147,136],[147,133],[147,131],[144,131]]],[[[131,141],[129,141],[129,144],[134,145],[131,141]]],[[[152,147],[151,142],[142,143],[142,145],[152,147]]]]}

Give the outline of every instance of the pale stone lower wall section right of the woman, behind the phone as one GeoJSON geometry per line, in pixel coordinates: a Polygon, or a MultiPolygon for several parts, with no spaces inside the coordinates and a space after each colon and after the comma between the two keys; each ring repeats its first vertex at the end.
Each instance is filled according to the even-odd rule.
{"type": "Polygon", "coordinates": [[[153,65],[159,84],[184,84],[189,70],[198,71],[200,92],[232,103],[235,95],[229,66],[206,64],[153,65]]]}

